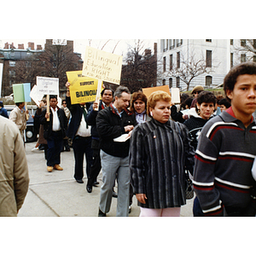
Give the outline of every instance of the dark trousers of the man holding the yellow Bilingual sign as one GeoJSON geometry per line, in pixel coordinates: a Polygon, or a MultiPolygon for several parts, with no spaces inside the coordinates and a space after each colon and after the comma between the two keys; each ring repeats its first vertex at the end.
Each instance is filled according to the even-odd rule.
{"type": "Polygon", "coordinates": [[[92,164],[91,137],[76,136],[73,139],[73,154],[75,159],[74,178],[76,180],[84,177],[84,154],[86,159],[86,175],[90,176],[90,166],[92,164]]]}

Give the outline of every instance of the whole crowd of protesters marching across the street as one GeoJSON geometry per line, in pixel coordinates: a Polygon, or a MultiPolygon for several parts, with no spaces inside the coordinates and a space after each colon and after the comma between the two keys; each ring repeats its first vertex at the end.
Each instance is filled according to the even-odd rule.
{"type": "MultiPolygon", "coordinates": [[[[180,216],[186,204],[186,172],[196,194],[195,217],[255,216],[256,182],[251,172],[256,156],[255,63],[230,69],[224,78],[225,97],[198,85],[192,96],[181,95],[178,106],[164,91],[154,91],[147,98],[142,91],[131,94],[125,86],[115,91],[104,88],[100,102],[71,104],[68,82],[66,87],[62,108],[57,107],[56,96],[49,97],[49,113],[45,104],[38,106],[36,148],[44,146],[47,172],[62,171],[61,151],[70,150],[71,139],[74,179],[84,183],[85,155],[88,193],[99,184],[102,170],[99,217],[110,211],[116,181],[116,216],[129,216],[133,195],[140,217],[180,216]]],[[[8,151],[0,149],[0,189],[12,194],[0,193],[1,216],[16,216],[28,189],[20,136],[24,126],[17,121],[22,118],[26,123],[22,106],[17,104],[10,120],[1,117],[0,122],[1,131],[10,137],[8,151]],[[15,154],[12,161],[10,154],[15,154]]]]}

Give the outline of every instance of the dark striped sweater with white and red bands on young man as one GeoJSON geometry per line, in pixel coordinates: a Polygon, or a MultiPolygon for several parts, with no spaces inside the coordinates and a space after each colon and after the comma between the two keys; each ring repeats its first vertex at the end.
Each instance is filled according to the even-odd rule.
{"type": "Polygon", "coordinates": [[[232,108],[204,126],[195,152],[193,183],[206,216],[222,216],[224,207],[250,204],[255,145],[255,120],[246,128],[232,108]]]}

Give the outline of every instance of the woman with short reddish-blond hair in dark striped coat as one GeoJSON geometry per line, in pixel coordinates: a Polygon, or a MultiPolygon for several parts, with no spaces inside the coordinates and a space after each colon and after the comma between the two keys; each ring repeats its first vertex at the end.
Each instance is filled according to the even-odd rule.
{"type": "Polygon", "coordinates": [[[194,148],[186,127],[170,119],[171,96],[155,91],[148,97],[151,120],[131,135],[131,184],[141,217],[180,216],[186,204],[184,170],[193,171],[194,148]]]}

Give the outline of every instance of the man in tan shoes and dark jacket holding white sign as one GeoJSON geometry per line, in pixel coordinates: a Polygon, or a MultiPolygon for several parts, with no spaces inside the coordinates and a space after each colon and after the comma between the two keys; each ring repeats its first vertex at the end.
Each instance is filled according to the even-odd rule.
{"type": "Polygon", "coordinates": [[[62,171],[61,148],[66,137],[67,117],[63,109],[57,106],[57,96],[49,96],[49,113],[44,109],[40,123],[44,125],[44,138],[47,140],[47,171],[62,171]],[[47,121],[49,119],[49,121],[47,121]]]}

